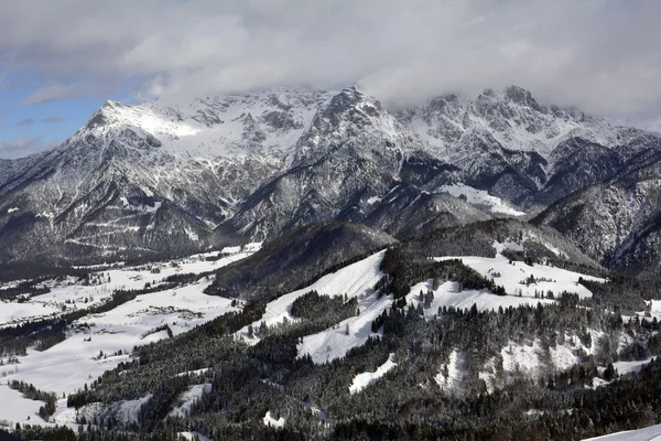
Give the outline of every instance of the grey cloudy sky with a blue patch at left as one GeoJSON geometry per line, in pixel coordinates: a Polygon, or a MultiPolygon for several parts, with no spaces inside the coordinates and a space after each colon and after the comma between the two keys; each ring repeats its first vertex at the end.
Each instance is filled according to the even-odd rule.
{"type": "Polygon", "coordinates": [[[0,158],[105,99],[360,84],[390,106],[517,84],[661,132],[658,0],[0,2],[0,158]]]}

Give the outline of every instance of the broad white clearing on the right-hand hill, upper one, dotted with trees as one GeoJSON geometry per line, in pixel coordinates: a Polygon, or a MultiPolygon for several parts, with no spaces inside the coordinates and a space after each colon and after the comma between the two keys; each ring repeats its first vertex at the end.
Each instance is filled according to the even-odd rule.
{"type": "Polygon", "coordinates": [[[512,261],[497,254],[496,257],[438,257],[435,260],[462,259],[463,263],[479,272],[483,277],[494,279],[496,284],[502,286],[510,295],[535,297],[535,293],[544,297],[549,291],[554,295],[563,291],[578,294],[581,299],[592,297],[592,292],[578,279],[606,282],[605,279],[585,276],[562,268],[546,265],[529,266],[522,261],[512,261]],[[533,279],[531,279],[531,277],[533,279]],[[530,280],[530,282],[528,282],[530,280]]]}

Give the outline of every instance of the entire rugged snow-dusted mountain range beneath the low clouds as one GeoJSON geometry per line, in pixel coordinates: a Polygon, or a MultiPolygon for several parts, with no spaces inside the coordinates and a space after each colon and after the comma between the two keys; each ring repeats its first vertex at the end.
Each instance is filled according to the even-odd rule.
{"type": "Polygon", "coordinates": [[[0,162],[0,258],[155,257],[330,219],[403,237],[537,212],[659,151],[514,86],[398,111],[355,86],[107,101],[55,149],[0,162]]]}

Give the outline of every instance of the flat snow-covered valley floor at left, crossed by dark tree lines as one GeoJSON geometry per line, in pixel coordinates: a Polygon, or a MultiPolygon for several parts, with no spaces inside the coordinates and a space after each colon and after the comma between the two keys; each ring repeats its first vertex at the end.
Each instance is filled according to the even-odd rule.
{"type": "MultiPolygon", "coordinates": [[[[50,293],[36,295],[26,303],[0,304],[0,325],[59,314],[63,312],[62,304],[67,310],[89,308],[106,301],[116,289],[142,289],[145,283],[158,284],[167,276],[213,271],[242,259],[257,249],[259,245],[243,247],[242,250],[238,247],[223,250],[224,257],[217,260],[207,260],[207,257],[218,257],[215,252],[149,266],[101,270],[95,273],[98,280],[102,280],[96,286],[84,286],[73,278],[51,282],[50,293]],[[227,255],[229,252],[234,254],[227,255]]],[[[167,338],[166,331],[156,332],[159,326],[167,325],[172,334],[177,335],[229,311],[236,311],[237,308],[231,306],[229,299],[203,292],[210,283],[212,279],[203,279],[184,287],[138,295],[105,313],[88,314],[74,322],[73,330],[67,331],[64,342],[44,352],[28,349],[26,356],[19,357],[18,365],[0,366],[0,404],[3,404],[0,406],[0,420],[44,423],[36,416],[43,402],[23,398],[20,392],[10,389],[7,381],[17,379],[31,383],[37,389],[53,391],[57,396],[71,394],[127,361],[134,346],[167,338]]],[[[184,394],[180,411],[189,409],[192,400],[203,390],[197,389],[184,394]]],[[[129,415],[139,405],[140,402],[124,402],[127,409],[121,410],[129,415]]],[[[71,424],[74,419],[75,412],[66,409],[66,400],[61,399],[53,420],[71,424]]]]}

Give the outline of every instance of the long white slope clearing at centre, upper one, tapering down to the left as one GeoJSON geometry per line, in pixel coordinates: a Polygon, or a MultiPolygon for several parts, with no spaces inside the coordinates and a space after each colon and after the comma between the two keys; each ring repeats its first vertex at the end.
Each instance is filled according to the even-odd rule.
{"type": "MultiPolygon", "coordinates": [[[[310,287],[290,292],[269,302],[267,311],[260,320],[252,323],[252,327],[254,330],[259,329],[261,322],[264,322],[268,326],[273,326],[282,323],[285,319],[290,322],[295,321],[291,314],[292,304],[297,298],[310,291],[317,291],[319,294],[325,295],[347,294],[348,299],[357,297],[358,308],[362,311],[364,305],[371,304],[371,289],[383,277],[383,273],[379,269],[383,256],[386,256],[386,251],[376,252],[336,272],[322,277],[310,287]]],[[[237,334],[241,335],[249,343],[257,343],[259,341],[258,335],[254,335],[252,338],[248,336],[248,326],[239,330],[237,334]]]]}

